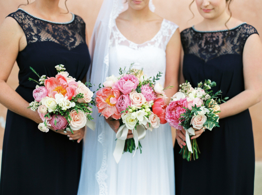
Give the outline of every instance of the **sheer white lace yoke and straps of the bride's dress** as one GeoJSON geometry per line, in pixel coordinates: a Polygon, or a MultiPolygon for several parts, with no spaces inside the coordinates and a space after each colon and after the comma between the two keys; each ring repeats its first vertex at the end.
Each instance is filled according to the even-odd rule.
{"type": "Polygon", "coordinates": [[[116,21],[112,27],[112,33],[110,36],[111,45],[125,45],[134,50],[139,50],[147,46],[154,46],[156,48],[166,49],[167,43],[169,42],[171,36],[174,34],[178,26],[169,20],[163,19],[160,30],[157,34],[149,41],[146,41],[141,44],[134,43],[128,40],[117,28],[116,21]]]}

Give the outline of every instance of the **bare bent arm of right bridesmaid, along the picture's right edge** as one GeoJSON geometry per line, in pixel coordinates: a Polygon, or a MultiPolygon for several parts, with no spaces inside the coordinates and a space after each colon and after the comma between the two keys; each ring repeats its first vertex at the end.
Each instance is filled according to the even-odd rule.
{"type": "Polygon", "coordinates": [[[245,91],[222,103],[220,118],[236,115],[262,100],[262,43],[258,34],[249,36],[243,51],[245,91]]]}

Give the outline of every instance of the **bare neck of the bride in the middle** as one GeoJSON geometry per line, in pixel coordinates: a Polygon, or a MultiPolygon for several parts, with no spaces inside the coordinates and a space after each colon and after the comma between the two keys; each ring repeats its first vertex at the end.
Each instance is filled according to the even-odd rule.
{"type": "Polygon", "coordinates": [[[129,20],[141,21],[147,20],[151,14],[151,11],[148,6],[141,10],[134,10],[129,6],[126,13],[129,20]]]}

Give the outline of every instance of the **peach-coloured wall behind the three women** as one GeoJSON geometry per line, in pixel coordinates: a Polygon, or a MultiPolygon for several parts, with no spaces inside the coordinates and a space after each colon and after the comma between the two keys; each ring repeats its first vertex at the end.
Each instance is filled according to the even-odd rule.
{"type": "MultiPolygon", "coordinates": [[[[155,13],[178,24],[180,31],[201,21],[201,16],[197,12],[195,3],[192,5],[192,11],[194,12],[195,17],[190,20],[193,16],[188,8],[190,2],[191,0],[153,0],[156,7],[155,13]]],[[[17,7],[21,3],[26,3],[26,0],[0,0],[0,24],[9,13],[16,11],[17,7]]],[[[76,15],[81,16],[86,22],[89,40],[91,38],[95,19],[98,15],[101,4],[102,0],[69,0],[67,2],[69,10],[76,15]]],[[[60,1],[60,5],[62,8],[65,8],[64,0],[60,1]]],[[[259,34],[261,34],[262,39],[261,0],[235,0],[231,4],[231,10],[233,17],[254,26],[258,30],[259,34]]],[[[18,86],[18,70],[18,66],[15,64],[8,78],[8,84],[13,87],[13,89],[18,86]]],[[[257,161],[262,161],[262,128],[260,126],[260,123],[262,122],[262,115],[259,114],[261,109],[262,102],[250,108],[257,161]]],[[[0,104],[0,149],[2,149],[3,145],[6,112],[7,109],[0,104]]],[[[14,129],[14,131],[16,131],[16,129],[14,129]]]]}

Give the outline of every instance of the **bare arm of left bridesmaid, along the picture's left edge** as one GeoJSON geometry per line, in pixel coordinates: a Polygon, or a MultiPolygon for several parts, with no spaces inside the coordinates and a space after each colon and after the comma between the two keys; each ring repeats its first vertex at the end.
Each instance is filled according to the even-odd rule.
{"type": "Polygon", "coordinates": [[[26,46],[22,41],[23,36],[25,35],[19,24],[7,17],[0,27],[0,103],[9,110],[40,123],[42,120],[38,113],[27,109],[29,103],[6,83],[18,52],[26,46]]]}

